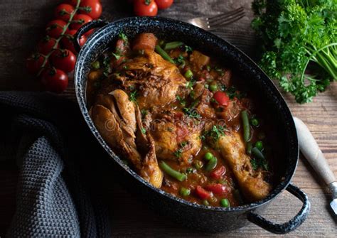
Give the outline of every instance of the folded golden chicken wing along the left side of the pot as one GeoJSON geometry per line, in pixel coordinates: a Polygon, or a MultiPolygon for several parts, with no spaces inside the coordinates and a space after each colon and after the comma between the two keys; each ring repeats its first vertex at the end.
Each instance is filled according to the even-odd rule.
{"type": "Polygon", "coordinates": [[[135,133],[142,131],[143,125],[139,120],[139,108],[129,101],[128,95],[122,90],[100,94],[92,107],[91,116],[107,144],[121,151],[142,178],[160,188],[163,175],[154,153],[154,141],[147,133],[141,141],[141,146],[136,144],[135,133]],[[142,148],[144,156],[139,153],[137,146],[142,148]]]}

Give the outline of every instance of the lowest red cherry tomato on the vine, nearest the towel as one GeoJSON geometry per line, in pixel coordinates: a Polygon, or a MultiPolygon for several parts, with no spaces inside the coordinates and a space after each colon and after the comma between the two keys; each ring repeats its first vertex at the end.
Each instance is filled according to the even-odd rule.
{"type": "Polygon", "coordinates": [[[50,92],[63,92],[68,87],[68,75],[62,70],[48,69],[44,72],[41,82],[50,92]]]}

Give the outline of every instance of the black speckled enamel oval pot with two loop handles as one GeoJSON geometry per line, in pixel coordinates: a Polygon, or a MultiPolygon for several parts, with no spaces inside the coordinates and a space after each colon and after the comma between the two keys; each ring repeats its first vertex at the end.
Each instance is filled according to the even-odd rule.
{"type": "MultiPolygon", "coordinates": [[[[250,221],[263,229],[267,229],[269,232],[284,234],[291,232],[304,222],[310,209],[309,200],[303,191],[289,183],[294,175],[299,156],[294,121],[282,95],[269,77],[247,55],[212,33],[203,31],[188,23],[168,18],[134,17],[124,18],[113,23],[92,21],[77,31],[75,36],[77,42],[83,33],[92,28],[98,29],[83,45],[77,57],[75,67],[76,97],[85,121],[102,147],[109,153],[110,158],[112,158],[114,162],[113,173],[120,174],[120,182],[123,185],[132,190],[132,192],[137,193],[139,198],[149,202],[149,205],[154,210],[171,217],[181,225],[207,232],[223,232],[237,229],[245,226],[250,221]],[[240,78],[245,80],[247,88],[252,92],[258,92],[262,102],[260,107],[267,110],[266,112],[272,117],[274,124],[277,124],[275,130],[277,130],[278,144],[282,148],[277,156],[280,160],[277,168],[277,171],[279,171],[278,182],[267,198],[240,207],[228,208],[205,207],[204,205],[187,202],[154,188],[122,163],[119,156],[107,146],[88,114],[85,90],[90,64],[114,42],[121,32],[129,37],[141,32],[151,32],[155,33],[157,37],[166,40],[181,40],[193,48],[217,58],[224,64],[230,65],[235,74],[240,75],[240,78]],[[287,190],[303,202],[301,210],[294,218],[284,224],[274,224],[257,214],[259,210],[267,207],[269,202],[276,198],[279,193],[282,193],[283,190],[287,190]]],[[[78,43],[76,44],[77,49],[80,49],[78,43]]],[[[272,207],[269,209],[272,209],[272,207]]]]}

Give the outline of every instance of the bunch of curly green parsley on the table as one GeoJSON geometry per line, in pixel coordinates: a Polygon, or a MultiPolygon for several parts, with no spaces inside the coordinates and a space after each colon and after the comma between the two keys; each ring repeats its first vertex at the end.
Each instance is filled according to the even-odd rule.
{"type": "Polygon", "coordinates": [[[337,0],[254,0],[252,9],[260,66],[296,102],[337,80],[337,0]]]}

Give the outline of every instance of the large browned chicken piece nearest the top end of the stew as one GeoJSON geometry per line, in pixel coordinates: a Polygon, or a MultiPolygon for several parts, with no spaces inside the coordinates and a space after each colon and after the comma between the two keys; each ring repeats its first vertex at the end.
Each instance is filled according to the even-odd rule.
{"type": "Polygon", "coordinates": [[[137,102],[141,109],[162,107],[176,100],[180,89],[186,88],[186,80],[176,65],[161,58],[153,50],[144,50],[119,67],[125,88],[136,87],[137,102]]]}

